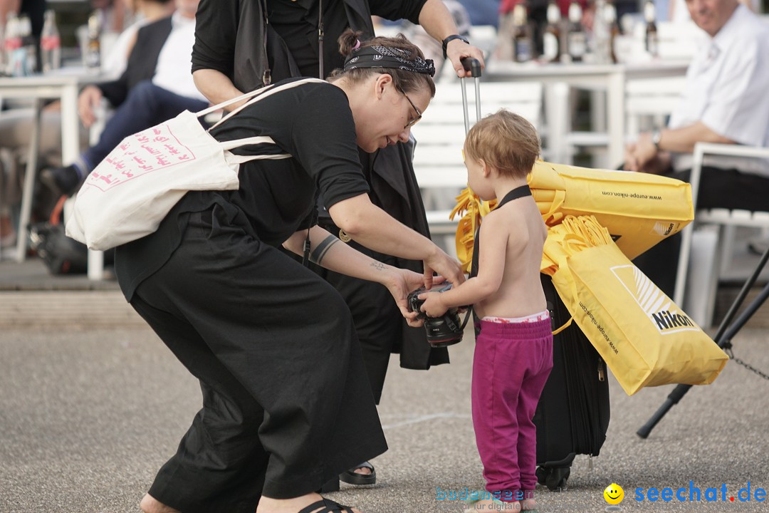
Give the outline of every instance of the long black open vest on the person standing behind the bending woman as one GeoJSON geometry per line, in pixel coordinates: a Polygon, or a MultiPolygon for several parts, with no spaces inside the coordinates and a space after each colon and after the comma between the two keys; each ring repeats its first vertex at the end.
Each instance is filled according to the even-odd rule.
{"type": "MultiPolygon", "coordinates": [[[[345,8],[346,25],[355,31],[361,31],[361,39],[374,37],[374,25],[371,22],[371,5],[369,0],[341,0],[345,8]]],[[[225,9],[232,7],[231,2],[222,2],[218,0],[208,0],[208,4],[198,8],[197,30],[205,30],[208,25],[207,20],[201,18],[201,9],[215,8],[225,9]],[[203,21],[201,21],[203,20],[203,21]]],[[[225,73],[231,78],[233,84],[240,91],[247,92],[264,85],[265,69],[268,63],[271,64],[272,82],[278,82],[281,79],[300,76],[298,66],[288,48],[283,42],[278,32],[271,25],[268,25],[265,18],[265,12],[268,8],[267,0],[237,0],[235,8],[237,13],[237,31],[235,32],[235,55],[233,64],[218,62],[221,59],[215,58],[218,55],[218,48],[210,48],[200,38],[195,38],[195,47],[192,50],[192,71],[195,72],[201,68],[214,68],[225,73]]],[[[317,0],[297,0],[297,4],[306,8],[308,12],[317,12],[317,0]]],[[[385,17],[408,17],[412,22],[418,22],[418,12],[424,5],[423,0],[411,0],[411,2],[391,2],[391,0],[381,0],[373,2],[376,6],[376,14],[385,15],[385,17]],[[408,4],[408,8],[402,8],[401,5],[408,4]],[[381,12],[380,12],[381,11],[381,12]]],[[[335,62],[340,60],[338,54],[338,43],[336,38],[341,34],[341,30],[330,29],[330,25],[340,28],[342,24],[338,19],[330,19],[330,13],[324,13],[326,34],[325,34],[325,74],[328,75],[335,62]],[[334,32],[339,32],[336,34],[334,32]]],[[[235,15],[229,12],[229,15],[235,15]]],[[[228,18],[228,22],[232,17],[228,18]]],[[[215,28],[217,30],[225,28],[215,28]]],[[[231,30],[231,27],[226,29],[231,30]]],[[[310,42],[315,44],[315,42],[310,42]]],[[[380,150],[375,155],[361,153],[361,165],[364,167],[364,173],[367,176],[368,183],[371,186],[371,202],[381,207],[385,212],[398,219],[399,222],[414,229],[427,237],[430,236],[427,218],[424,215],[424,205],[422,203],[419,185],[414,176],[414,168],[411,164],[411,155],[414,151],[414,145],[411,142],[407,144],[398,144],[389,146],[380,150]]],[[[321,212],[321,218],[323,213],[321,212]]],[[[332,230],[333,232],[333,230],[332,230]]],[[[395,259],[391,261],[388,255],[381,255],[371,250],[363,250],[373,258],[380,261],[388,261],[401,268],[408,268],[412,271],[422,271],[421,261],[412,261],[404,259],[395,259]]],[[[353,278],[351,278],[353,279],[353,278]]],[[[351,307],[352,308],[352,307],[351,307]]],[[[377,312],[368,312],[368,315],[378,315],[377,312]]],[[[398,315],[399,316],[399,315],[398,315]]],[[[424,328],[410,328],[401,318],[402,336],[395,341],[394,350],[401,354],[401,367],[424,369],[431,365],[438,365],[448,362],[448,351],[445,348],[431,349],[426,341],[424,328]]]]}

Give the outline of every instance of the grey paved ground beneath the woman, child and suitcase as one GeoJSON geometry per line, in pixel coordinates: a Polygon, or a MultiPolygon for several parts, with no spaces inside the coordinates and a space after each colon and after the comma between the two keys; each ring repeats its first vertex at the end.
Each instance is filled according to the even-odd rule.
{"type": "MultiPolygon", "coordinates": [[[[743,331],[735,353],[769,371],[767,334],[743,331]]],[[[374,461],[378,483],[343,485],[331,498],[368,513],[461,511],[436,491],[483,484],[470,418],[473,346],[466,337],[452,348],[452,365],[428,373],[393,361],[380,407],[390,450],[374,461]]],[[[612,379],[601,455],[592,470],[578,458],[568,491],[542,490],[539,511],[604,511],[612,482],[624,488],[625,511],[769,511],[754,496],[769,489],[769,381],[730,362],[641,440],[635,431],[669,390],[628,397],[612,379]],[[688,489],[689,481],[701,502],[634,500],[635,488],[688,489]],[[705,501],[706,489],[722,484],[727,501],[705,501]],[[751,501],[728,501],[748,484],[751,501]]],[[[4,329],[0,391],[0,511],[8,513],[138,513],[200,401],[195,381],[145,328],[4,329]]]]}

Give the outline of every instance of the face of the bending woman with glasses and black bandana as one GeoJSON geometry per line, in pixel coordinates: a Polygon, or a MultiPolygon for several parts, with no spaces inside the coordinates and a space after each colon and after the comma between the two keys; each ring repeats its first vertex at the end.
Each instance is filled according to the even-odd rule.
{"type": "Polygon", "coordinates": [[[421,118],[431,99],[427,87],[404,92],[394,86],[390,75],[378,75],[372,82],[370,101],[361,115],[355,116],[358,146],[369,153],[398,141],[407,142],[411,126],[421,118]]]}

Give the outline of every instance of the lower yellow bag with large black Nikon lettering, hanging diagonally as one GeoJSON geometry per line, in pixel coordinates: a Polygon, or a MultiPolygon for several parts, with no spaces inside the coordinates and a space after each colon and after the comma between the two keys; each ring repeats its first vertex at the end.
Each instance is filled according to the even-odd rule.
{"type": "Polygon", "coordinates": [[[707,385],[724,351],[623,255],[593,216],[549,228],[542,271],[628,395],[649,386],[707,385]]]}

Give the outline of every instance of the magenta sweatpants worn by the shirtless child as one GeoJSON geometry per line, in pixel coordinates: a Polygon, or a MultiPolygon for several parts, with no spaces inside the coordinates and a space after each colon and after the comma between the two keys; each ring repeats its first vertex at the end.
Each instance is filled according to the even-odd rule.
{"type": "Polygon", "coordinates": [[[481,321],[472,411],[486,489],[501,501],[534,497],[537,429],[532,418],[553,367],[550,319],[481,321]]]}

